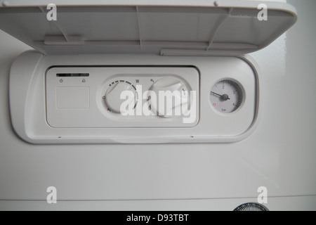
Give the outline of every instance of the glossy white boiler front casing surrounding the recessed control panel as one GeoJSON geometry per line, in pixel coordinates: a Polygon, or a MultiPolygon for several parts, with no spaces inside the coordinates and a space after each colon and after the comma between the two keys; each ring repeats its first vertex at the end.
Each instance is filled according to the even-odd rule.
{"type": "MultiPolygon", "coordinates": [[[[232,144],[25,143],[11,127],[8,71],[28,47],[0,32],[0,199],[45,200],[46,188],[55,186],[60,200],[173,199],[175,203],[172,208],[164,201],[159,201],[162,207],[157,202],[142,202],[143,207],[131,201],[87,203],[91,208],[181,210],[182,201],[175,199],[256,198],[259,186],[266,186],[270,197],[316,195],[316,33],[312,28],[316,1],[288,2],[298,9],[298,23],[268,48],[251,54],[263,72],[261,121],[249,138],[232,144]]],[[[32,204],[1,202],[0,210],[38,208],[32,204]]],[[[80,205],[68,204],[75,204],[70,206],[73,209],[80,205]]],[[[316,210],[315,196],[278,198],[274,204],[270,210],[316,210]]],[[[232,210],[225,199],[204,207],[232,210]]]]}

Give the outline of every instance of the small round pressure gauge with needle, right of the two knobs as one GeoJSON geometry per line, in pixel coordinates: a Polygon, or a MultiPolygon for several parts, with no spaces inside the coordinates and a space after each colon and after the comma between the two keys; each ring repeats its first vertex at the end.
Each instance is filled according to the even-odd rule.
{"type": "Polygon", "coordinates": [[[210,94],[211,105],[220,113],[232,113],[242,105],[242,89],[230,79],[214,84],[210,94]]]}

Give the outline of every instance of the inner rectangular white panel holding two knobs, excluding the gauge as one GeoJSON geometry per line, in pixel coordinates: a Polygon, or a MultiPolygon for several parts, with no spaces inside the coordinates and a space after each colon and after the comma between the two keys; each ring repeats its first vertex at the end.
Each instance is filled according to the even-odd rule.
{"type": "Polygon", "coordinates": [[[53,67],[46,72],[47,122],[55,128],[194,127],[194,67],[53,67]]]}

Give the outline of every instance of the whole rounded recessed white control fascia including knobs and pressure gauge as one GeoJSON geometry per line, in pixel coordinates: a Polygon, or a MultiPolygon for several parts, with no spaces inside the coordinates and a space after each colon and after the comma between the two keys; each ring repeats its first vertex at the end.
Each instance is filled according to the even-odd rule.
{"type": "Polygon", "coordinates": [[[13,128],[30,143],[228,143],[258,124],[249,57],[22,54],[13,128]]]}

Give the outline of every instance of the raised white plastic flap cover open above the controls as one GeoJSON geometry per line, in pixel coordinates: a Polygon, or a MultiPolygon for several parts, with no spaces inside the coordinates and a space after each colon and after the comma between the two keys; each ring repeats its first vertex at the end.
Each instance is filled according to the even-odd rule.
{"type": "Polygon", "coordinates": [[[297,18],[293,6],[272,1],[132,2],[55,1],[50,21],[51,1],[7,0],[0,28],[46,55],[239,55],[268,46],[297,18]],[[268,6],[268,20],[258,20],[259,4],[268,6]]]}

